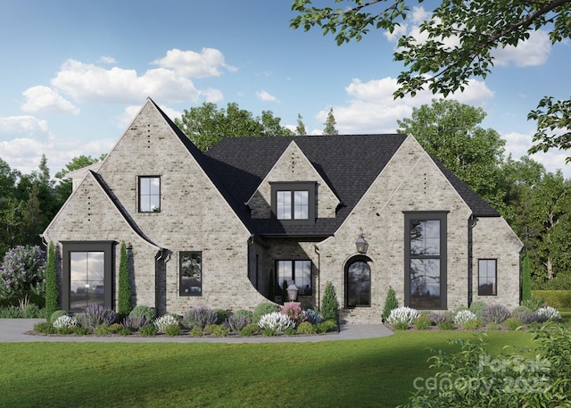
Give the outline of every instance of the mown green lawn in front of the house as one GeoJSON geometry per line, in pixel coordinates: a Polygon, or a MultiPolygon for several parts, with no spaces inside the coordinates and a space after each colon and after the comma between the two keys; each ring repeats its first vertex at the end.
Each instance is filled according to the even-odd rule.
{"type": "MultiPolygon", "coordinates": [[[[467,332],[273,344],[4,343],[1,407],[393,407],[428,377],[426,347],[467,332]]],[[[492,353],[530,346],[490,333],[492,353]]]]}

